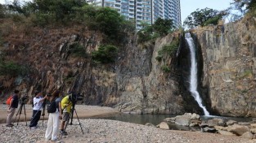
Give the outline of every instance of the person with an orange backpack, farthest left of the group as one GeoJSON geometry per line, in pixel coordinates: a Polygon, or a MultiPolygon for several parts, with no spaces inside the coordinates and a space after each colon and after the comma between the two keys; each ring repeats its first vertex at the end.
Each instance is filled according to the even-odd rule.
{"type": "Polygon", "coordinates": [[[8,106],[8,111],[7,111],[7,127],[12,127],[14,124],[11,124],[11,119],[16,111],[16,108],[19,105],[19,97],[18,93],[19,90],[14,90],[14,93],[11,95],[11,102],[10,105],[8,106]]]}

